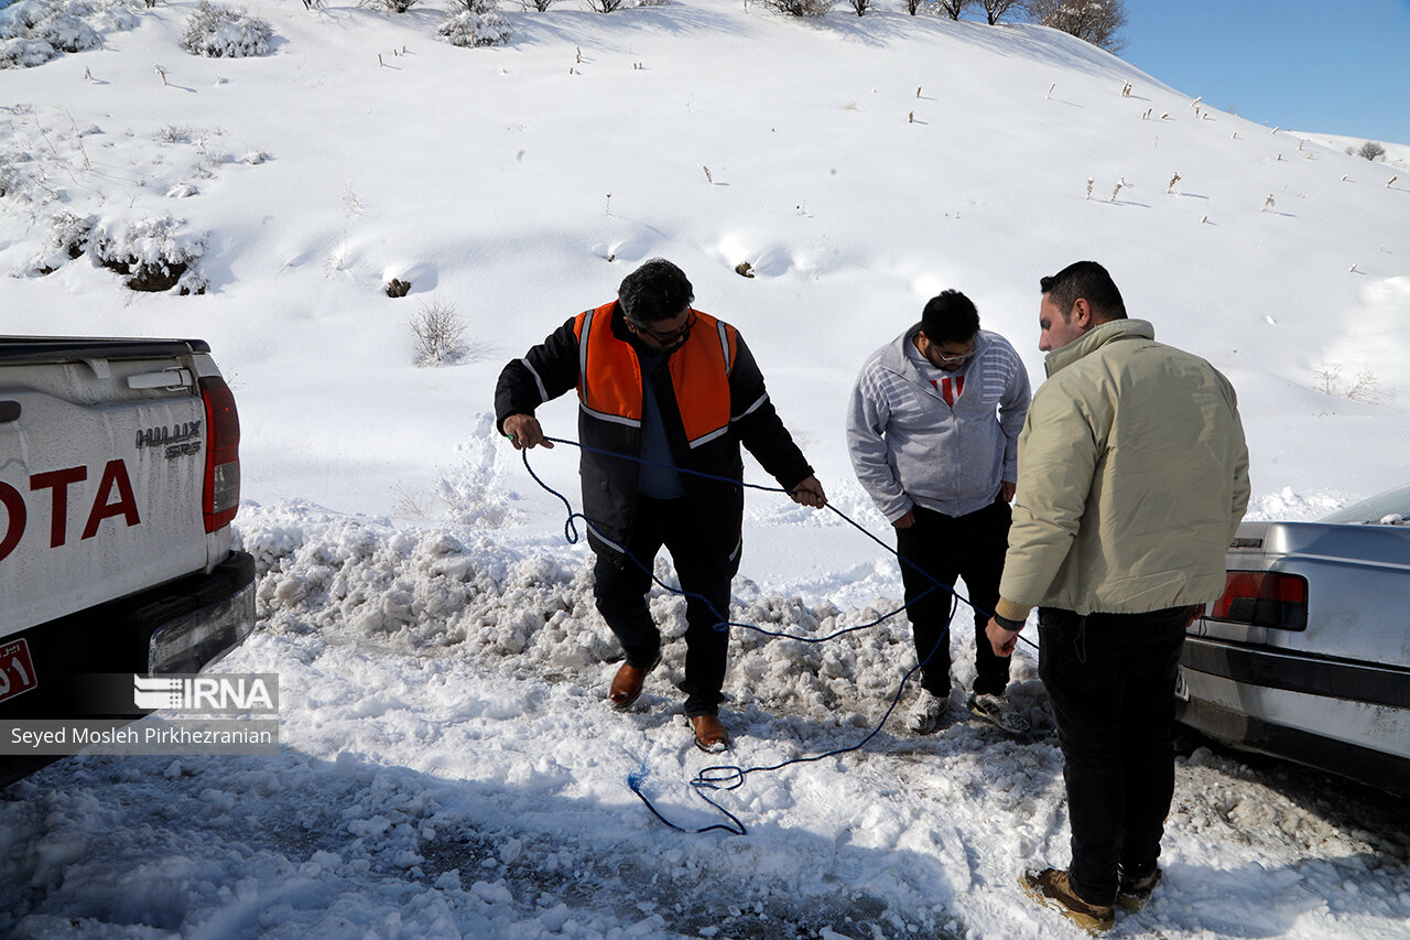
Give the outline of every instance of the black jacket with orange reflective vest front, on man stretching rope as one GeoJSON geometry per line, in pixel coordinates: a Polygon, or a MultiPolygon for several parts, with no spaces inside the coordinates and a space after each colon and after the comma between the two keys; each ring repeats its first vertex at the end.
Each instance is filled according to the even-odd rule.
{"type": "MultiPolygon", "coordinates": [[[[788,488],[812,476],[812,467],[778,419],[764,377],[739,332],[699,311],[695,315],[689,339],[651,374],[651,391],[675,467],[685,471],[681,486],[708,548],[737,570],[744,514],[743,490],[736,486],[744,474],[739,445],[788,488]]],[[[577,390],[588,541],[618,563],[632,536],[642,464],[612,454],[642,454],[643,371],[637,349],[613,301],[584,311],[523,358],[510,361],[495,388],[501,432],[505,418],[532,415],[543,402],[577,390]]]]}

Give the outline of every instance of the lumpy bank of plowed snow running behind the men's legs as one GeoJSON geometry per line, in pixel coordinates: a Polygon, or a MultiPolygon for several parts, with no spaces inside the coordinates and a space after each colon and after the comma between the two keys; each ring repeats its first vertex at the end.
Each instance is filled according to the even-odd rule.
{"type": "MultiPolygon", "coordinates": [[[[536,546],[519,555],[486,536],[398,529],[306,505],[247,508],[240,538],[257,560],[258,615],[269,631],[444,651],[486,669],[584,686],[603,683],[622,659],[594,605],[592,563],[581,549],[536,546]]],[[[668,555],[657,558],[654,574],[675,584],[668,555]]],[[[766,594],[744,579],[735,587],[729,615],[744,625],[730,628],[729,700],[864,728],[915,666],[904,613],[867,627],[897,611],[900,600],[843,611],[766,594]]],[[[663,635],[664,675],[678,682],[685,644],[673,641],[685,634],[685,600],[657,586],[650,607],[663,635]]],[[[969,622],[957,614],[956,624],[969,622]]],[[[974,635],[956,632],[953,672],[967,686],[974,635]]],[[[1050,727],[1035,675],[1034,663],[1019,659],[1010,696],[1035,724],[1050,727]]]]}

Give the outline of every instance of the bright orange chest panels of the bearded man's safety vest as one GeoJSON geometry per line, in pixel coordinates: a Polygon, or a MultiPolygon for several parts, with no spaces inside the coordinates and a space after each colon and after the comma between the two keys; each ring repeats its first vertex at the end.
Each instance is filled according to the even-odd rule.
{"type": "MultiPolygon", "coordinates": [[[[630,428],[642,426],[642,366],[636,350],[612,333],[616,302],[584,311],[578,336],[578,401],[585,412],[630,428]]],[[[667,360],[675,404],[691,447],[729,430],[729,371],[737,332],[695,311],[689,339],[667,360]]]]}

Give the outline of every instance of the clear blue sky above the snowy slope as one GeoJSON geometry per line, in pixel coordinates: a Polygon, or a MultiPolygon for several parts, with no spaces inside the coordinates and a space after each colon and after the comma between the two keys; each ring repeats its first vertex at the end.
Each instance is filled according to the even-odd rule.
{"type": "Polygon", "coordinates": [[[1125,0],[1121,58],[1269,127],[1410,144],[1410,0],[1125,0]]]}

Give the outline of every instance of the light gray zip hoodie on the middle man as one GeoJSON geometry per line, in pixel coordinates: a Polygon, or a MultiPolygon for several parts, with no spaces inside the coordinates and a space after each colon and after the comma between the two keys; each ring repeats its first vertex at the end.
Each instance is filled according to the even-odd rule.
{"type": "Polygon", "coordinates": [[[857,480],[891,522],[919,505],[969,515],[1018,480],[1018,433],[1031,399],[1028,370],[998,333],[980,330],[949,405],[911,361],[916,323],[862,367],[847,408],[857,480]]]}

